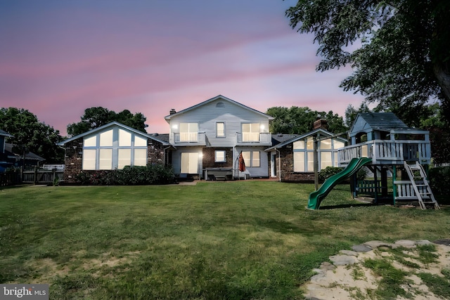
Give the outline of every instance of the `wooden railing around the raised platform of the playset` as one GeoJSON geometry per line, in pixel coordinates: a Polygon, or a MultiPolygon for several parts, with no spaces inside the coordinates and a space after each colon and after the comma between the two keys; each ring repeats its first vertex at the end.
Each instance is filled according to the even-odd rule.
{"type": "Polygon", "coordinates": [[[431,148],[428,141],[375,140],[338,150],[340,165],[348,164],[354,157],[371,157],[373,164],[403,164],[404,161],[430,164],[431,148]]]}

